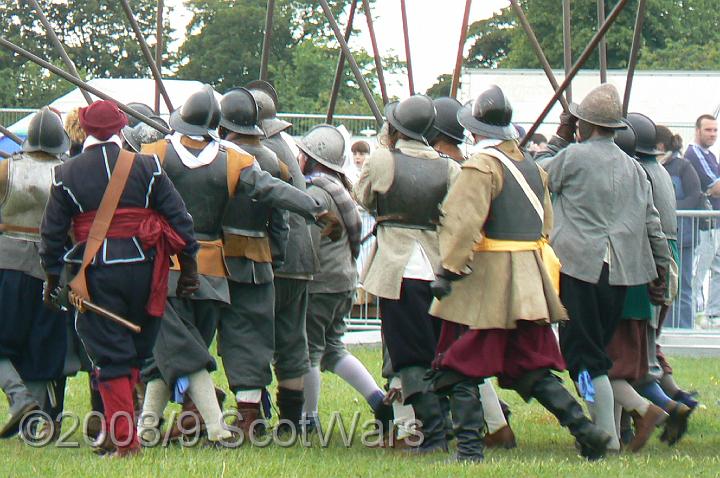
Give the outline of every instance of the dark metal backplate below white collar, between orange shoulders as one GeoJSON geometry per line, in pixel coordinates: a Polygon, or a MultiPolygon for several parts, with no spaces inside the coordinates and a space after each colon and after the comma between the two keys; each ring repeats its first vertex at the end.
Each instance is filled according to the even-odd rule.
{"type": "MultiPolygon", "coordinates": [[[[194,154],[198,150],[188,148],[194,154]]],[[[163,169],[185,201],[193,218],[195,234],[200,240],[220,238],[222,216],[227,205],[227,152],[220,148],[207,166],[190,169],[183,164],[172,144],[167,145],[163,169]]]]}

